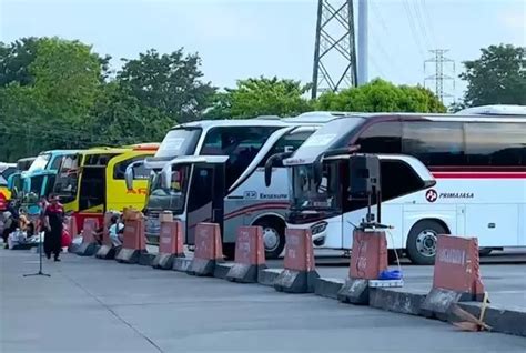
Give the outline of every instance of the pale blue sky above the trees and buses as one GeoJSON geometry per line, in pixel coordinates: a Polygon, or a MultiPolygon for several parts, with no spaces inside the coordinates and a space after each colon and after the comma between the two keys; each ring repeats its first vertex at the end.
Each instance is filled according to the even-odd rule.
{"type": "MultiPolygon", "coordinates": [[[[310,82],[316,11],[317,0],[0,0],[0,41],[79,39],[115,68],[150,48],[184,47],[220,88],[260,75],[310,82]]],[[[456,72],[444,71],[457,77],[483,47],[526,47],[526,0],[368,0],[367,28],[370,79],[422,84],[434,73],[431,64],[424,71],[429,49],[448,49],[456,72]]],[[[445,84],[456,99],[464,89],[458,78],[455,89],[445,84]]]]}

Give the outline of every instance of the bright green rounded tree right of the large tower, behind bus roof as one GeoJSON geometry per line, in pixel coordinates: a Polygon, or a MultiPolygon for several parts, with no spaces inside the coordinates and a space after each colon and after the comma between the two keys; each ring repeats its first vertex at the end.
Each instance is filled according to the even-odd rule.
{"type": "Polygon", "coordinates": [[[376,79],[367,84],[322,94],[318,110],[347,112],[445,112],[437,97],[423,87],[395,85],[376,79]]]}

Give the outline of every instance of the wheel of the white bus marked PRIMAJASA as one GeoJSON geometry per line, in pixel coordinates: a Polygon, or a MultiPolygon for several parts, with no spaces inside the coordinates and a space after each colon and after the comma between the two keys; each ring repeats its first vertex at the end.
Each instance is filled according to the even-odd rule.
{"type": "Polygon", "coordinates": [[[407,236],[407,256],[418,265],[435,264],[436,235],[448,234],[447,229],[434,220],[417,222],[407,236]]]}

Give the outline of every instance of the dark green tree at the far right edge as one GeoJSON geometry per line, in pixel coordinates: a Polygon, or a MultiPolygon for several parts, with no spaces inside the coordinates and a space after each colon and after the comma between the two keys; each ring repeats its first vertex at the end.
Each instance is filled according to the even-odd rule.
{"type": "Polygon", "coordinates": [[[467,107],[485,104],[526,104],[526,48],[510,44],[481,49],[477,60],[465,61],[467,81],[464,103],[467,107]]]}

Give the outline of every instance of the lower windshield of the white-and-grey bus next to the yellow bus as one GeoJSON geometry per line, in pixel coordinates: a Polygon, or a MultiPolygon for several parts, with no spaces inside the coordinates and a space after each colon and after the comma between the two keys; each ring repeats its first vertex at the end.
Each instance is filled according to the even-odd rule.
{"type": "Polygon", "coordinates": [[[148,198],[148,209],[155,211],[170,210],[174,213],[182,213],[186,199],[189,167],[173,167],[172,182],[169,190],[162,188],[161,172],[154,172],[150,176],[150,190],[148,198]]]}

